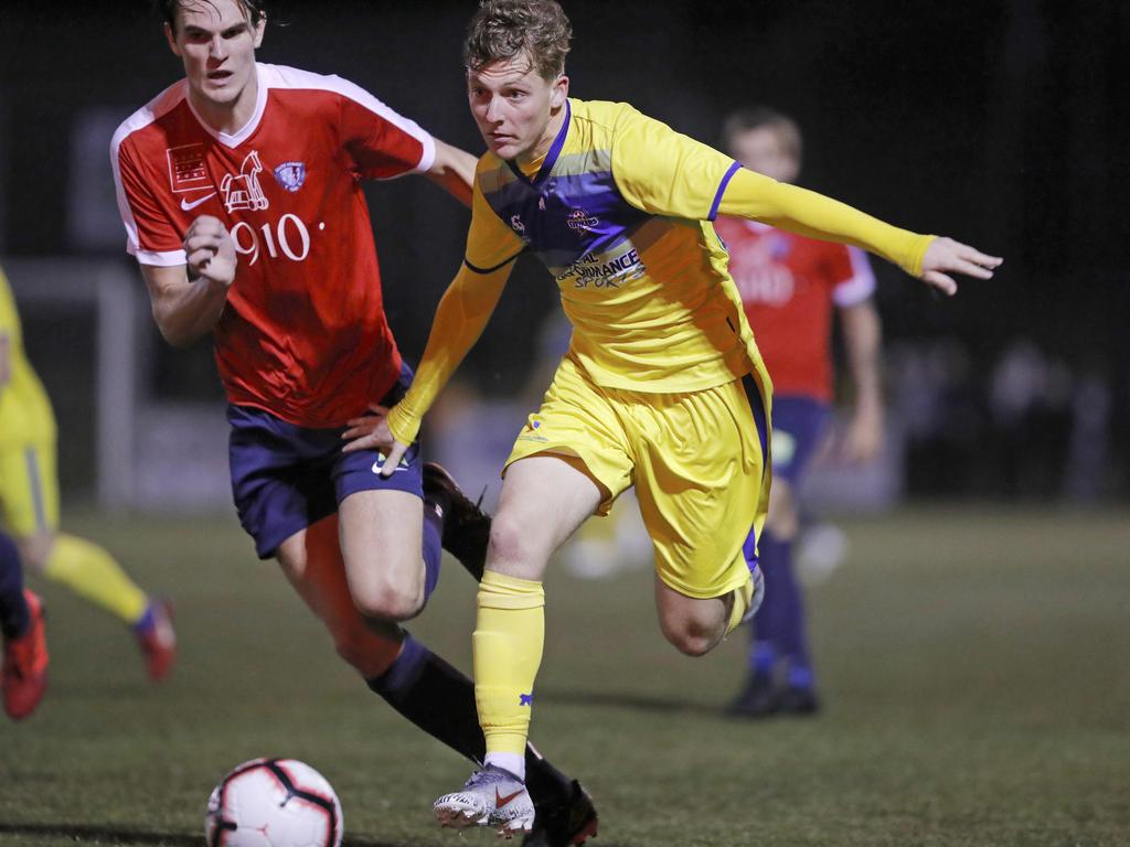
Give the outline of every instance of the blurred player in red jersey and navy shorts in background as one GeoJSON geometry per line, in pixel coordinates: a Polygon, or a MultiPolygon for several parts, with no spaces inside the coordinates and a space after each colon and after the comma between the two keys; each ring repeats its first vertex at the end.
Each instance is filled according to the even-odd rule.
{"type": "MultiPolygon", "coordinates": [[[[722,141],[742,165],[779,182],[794,182],[800,173],[800,130],[785,115],[767,108],[736,112],[723,125],[722,141]]],[[[793,567],[800,526],[797,492],[833,400],[833,307],[855,398],[840,445],[842,456],[868,462],[881,446],[875,274],[858,247],[740,218],[719,218],[714,228],[730,254],[730,273],[773,379],[773,490],[758,543],[766,596],[751,627],[748,680],[730,711],[749,717],[812,714],[819,701],[793,567]]]]}

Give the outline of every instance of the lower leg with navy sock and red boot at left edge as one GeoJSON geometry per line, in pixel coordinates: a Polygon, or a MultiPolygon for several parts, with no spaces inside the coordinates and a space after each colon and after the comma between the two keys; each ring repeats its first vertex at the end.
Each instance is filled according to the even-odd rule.
{"type": "Polygon", "coordinates": [[[24,587],[24,568],[15,542],[0,532],[0,636],[3,637],[3,710],[14,721],[27,717],[47,688],[47,641],[43,604],[24,587]]]}

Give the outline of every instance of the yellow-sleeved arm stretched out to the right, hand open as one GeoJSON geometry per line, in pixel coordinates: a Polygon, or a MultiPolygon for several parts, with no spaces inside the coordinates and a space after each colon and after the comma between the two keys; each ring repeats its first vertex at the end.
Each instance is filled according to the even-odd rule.
{"type": "Polygon", "coordinates": [[[950,238],[899,229],[838,200],[746,168],[739,168],[730,180],[719,212],[754,218],[811,238],[854,244],[945,294],[957,290],[950,273],[990,279],[1005,261],[950,238]]]}

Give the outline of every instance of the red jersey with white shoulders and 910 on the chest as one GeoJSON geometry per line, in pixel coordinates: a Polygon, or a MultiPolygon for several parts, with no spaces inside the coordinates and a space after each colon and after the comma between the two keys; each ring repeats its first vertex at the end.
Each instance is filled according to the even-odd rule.
{"type": "Polygon", "coordinates": [[[219,218],[240,260],[214,330],[228,400],[340,426],[400,372],[360,181],[427,171],[435,142],[339,77],[257,72],[254,114],[235,134],[197,116],[184,80],[118,129],[127,250],[141,264],[185,264],[189,225],[219,218]]]}

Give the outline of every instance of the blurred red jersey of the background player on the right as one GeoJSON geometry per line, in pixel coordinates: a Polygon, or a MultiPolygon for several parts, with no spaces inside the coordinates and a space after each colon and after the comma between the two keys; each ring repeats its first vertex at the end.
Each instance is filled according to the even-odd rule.
{"type": "Polygon", "coordinates": [[[773,392],[832,402],[832,306],[853,306],[875,291],[867,254],[740,218],[720,217],[714,228],[773,392]]]}

